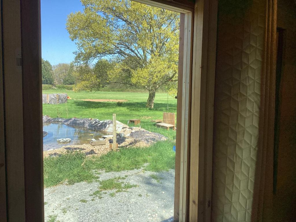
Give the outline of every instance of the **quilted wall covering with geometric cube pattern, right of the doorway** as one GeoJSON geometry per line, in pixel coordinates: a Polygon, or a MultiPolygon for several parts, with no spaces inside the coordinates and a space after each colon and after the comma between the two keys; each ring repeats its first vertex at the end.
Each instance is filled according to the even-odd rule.
{"type": "MultiPolygon", "coordinates": [[[[266,2],[246,2],[248,4],[234,3],[230,13],[220,3],[218,8],[212,189],[214,222],[251,221],[266,2]]],[[[227,5],[229,7],[231,3],[227,5]]]]}

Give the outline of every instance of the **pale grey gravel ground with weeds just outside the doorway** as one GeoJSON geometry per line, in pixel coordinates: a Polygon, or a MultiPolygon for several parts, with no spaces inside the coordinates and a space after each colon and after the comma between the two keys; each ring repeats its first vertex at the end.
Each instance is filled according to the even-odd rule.
{"type": "Polygon", "coordinates": [[[50,217],[56,218],[56,222],[173,221],[174,170],[160,173],[143,169],[109,173],[101,171],[99,180],[119,176],[125,177],[125,183],[137,187],[118,193],[107,190],[102,192],[102,198],[90,196],[98,190],[99,182],[45,188],[45,221],[49,221],[50,217]],[[151,175],[156,176],[152,178],[151,175]]]}

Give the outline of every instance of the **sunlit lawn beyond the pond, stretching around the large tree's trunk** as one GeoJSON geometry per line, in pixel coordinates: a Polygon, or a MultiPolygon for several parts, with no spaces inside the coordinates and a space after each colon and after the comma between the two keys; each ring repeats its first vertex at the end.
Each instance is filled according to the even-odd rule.
{"type": "MultiPolygon", "coordinates": [[[[177,99],[166,93],[156,93],[154,109],[147,109],[148,93],[140,92],[74,92],[62,89],[44,90],[43,94],[66,93],[70,98],[64,104],[43,104],[43,115],[61,118],[97,118],[99,120],[116,119],[127,124],[129,119],[140,119],[141,127],[151,132],[161,133],[170,139],[175,139],[176,131],[157,128],[150,120],[162,119],[163,112],[177,112],[177,99]],[[90,102],[74,99],[125,99],[122,106],[116,102],[90,102]]],[[[132,126],[131,124],[128,124],[132,126]]]]}

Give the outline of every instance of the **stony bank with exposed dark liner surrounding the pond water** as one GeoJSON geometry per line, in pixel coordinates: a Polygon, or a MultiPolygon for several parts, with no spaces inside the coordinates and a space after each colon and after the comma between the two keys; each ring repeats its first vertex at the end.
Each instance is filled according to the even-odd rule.
{"type": "MultiPolygon", "coordinates": [[[[71,149],[71,151],[79,149],[87,155],[103,155],[111,151],[110,144],[113,142],[113,121],[112,120],[98,120],[98,119],[62,119],[62,118],[51,118],[49,116],[43,116],[44,123],[63,123],[73,127],[85,127],[92,131],[105,131],[109,132],[109,135],[103,135],[101,140],[105,140],[104,145],[83,144],[83,145],[71,145],[71,147],[63,147],[60,149],[53,149],[49,152],[44,152],[45,156],[52,155],[54,152],[65,153],[71,149]],[[75,148],[74,148],[75,147],[75,148]],[[72,150],[73,149],[73,150],[72,150]]],[[[118,148],[120,147],[148,147],[157,141],[165,141],[167,138],[160,133],[154,133],[147,131],[140,127],[129,127],[119,121],[116,121],[117,131],[117,143],[118,148]]],[[[90,139],[94,141],[95,139],[90,139]]],[[[58,139],[57,142],[67,143],[70,142],[70,138],[58,139]]]]}

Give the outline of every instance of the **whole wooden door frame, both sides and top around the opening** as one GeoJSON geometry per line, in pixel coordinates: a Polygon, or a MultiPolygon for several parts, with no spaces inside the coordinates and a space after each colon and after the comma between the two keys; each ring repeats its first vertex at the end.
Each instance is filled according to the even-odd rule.
{"type": "MultiPolygon", "coordinates": [[[[179,190],[175,192],[174,219],[210,221],[217,0],[196,0],[195,8],[192,1],[136,1],[184,15],[183,55],[179,58],[179,63],[183,62],[179,69],[182,93],[179,90],[178,94],[181,115],[178,111],[177,117],[180,159],[176,158],[175,179],[179,190]]],[[[5,136],[5,144],[4,149],[0,144],[0,152],[4,150],[5,158],[0,159],[0,173],[5,169],[6,187],[0,184],[0,194],[7,197],[7,217],[0,211],[0,218],[1,222],[40,222],[44,221],[40,0],[1,3],[4,83],[0,90],[4,101],[0,101],[0,128],[4,128],[4,135],[0,136],[5,136]],[[20,70],[15,66],[20,48],[22,67],[16,75],[12,70],[20,70]],[[12,95],[19,96],[19,102],[8,98],[12,95]]]]}

